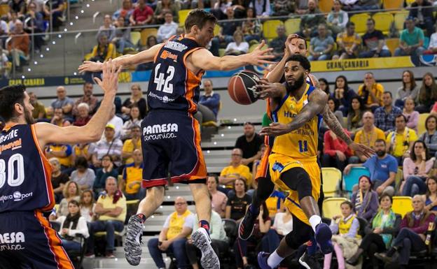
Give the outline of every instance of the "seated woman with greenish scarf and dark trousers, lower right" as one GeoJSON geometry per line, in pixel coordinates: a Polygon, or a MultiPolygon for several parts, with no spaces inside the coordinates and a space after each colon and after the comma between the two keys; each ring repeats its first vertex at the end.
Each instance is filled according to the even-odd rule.
{"type": "Polygon", "coordinates": [[[356,266],[361,255],[366,254],[373,268],[379,268],[379,261],[375,258],[376,252],[384,252],[389,249],[394,235],[401,225],[401,215],[396,215],[391,208],[393,199],[388,194],[380,197],[380,209],[365,228],[364,236],[355,254],[346,262],[356,266]]]}

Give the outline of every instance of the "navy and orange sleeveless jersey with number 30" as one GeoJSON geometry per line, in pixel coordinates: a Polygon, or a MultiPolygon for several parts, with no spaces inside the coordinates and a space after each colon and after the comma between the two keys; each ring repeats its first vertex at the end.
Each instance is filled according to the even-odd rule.
{"type": "Polygon", "coordinates": [[[51,174],[34,125],[6,126],[0,132],[0,213],[52,210],[51,174]]]}

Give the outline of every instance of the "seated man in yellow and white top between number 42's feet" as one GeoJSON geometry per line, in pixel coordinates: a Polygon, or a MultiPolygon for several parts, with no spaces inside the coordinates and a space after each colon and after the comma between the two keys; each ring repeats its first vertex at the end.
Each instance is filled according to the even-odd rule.
{"type": "Polygon", "coordinates": [[[162,252],[172,252],[178,268],[189,268],[185,244],[193,231],[194,217],[183,197],[174,200],[175,211],[165,220],[158,238],[148,240],[148,252],[157,268],[165,268],[162,252]]]}

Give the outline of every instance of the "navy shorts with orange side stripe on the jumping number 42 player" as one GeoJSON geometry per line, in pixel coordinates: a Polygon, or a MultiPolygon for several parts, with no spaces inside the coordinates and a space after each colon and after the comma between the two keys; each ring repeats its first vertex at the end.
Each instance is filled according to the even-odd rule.
{"type": "Polygon", "coordinates": [[[207,177],[200,126],[188,112],[151,110],[141,122],[143,187],[172,182],[202,182],[207,177]]]}

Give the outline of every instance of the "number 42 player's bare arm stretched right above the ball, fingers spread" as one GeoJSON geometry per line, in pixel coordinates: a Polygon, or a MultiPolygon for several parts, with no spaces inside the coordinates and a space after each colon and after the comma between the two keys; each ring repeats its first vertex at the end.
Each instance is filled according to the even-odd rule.
{"type": "Polygon", "coordinates": [[[275,58],[273,55],[268,54],[272,49],[261,50],[265,45],[262,41],[256,49],[247,54],[242,54],[238,56],[223,56],[215,57],[209,50],[196,50],[191,54],[190,62],[202,70],[233,70],[242,66],[247,66],[253,64],[256,66],[262,66],[263,64],[273,64],[271,59],[275,58]]]}

